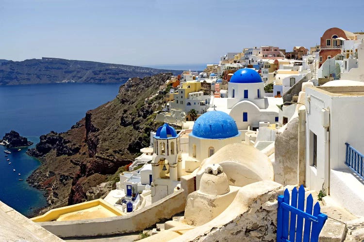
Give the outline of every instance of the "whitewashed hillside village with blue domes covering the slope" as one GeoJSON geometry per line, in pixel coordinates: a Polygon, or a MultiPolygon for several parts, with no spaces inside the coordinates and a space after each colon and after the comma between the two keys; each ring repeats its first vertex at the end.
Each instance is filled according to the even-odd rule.
{"type": "Polygon", "coordinates": [[[281,232],[279,196],[287,188],[293,205],[303,185],[298,193],[327,215],[319,241],[363,241],[364,33],[331,28],[318,38],[290,52],[244,48],[171,76],[145,101],[164,95],[155,118],[164,124],[106,197],[35,224],[7,219],[37,230],[34,241],[138,231],[143,241],[291,240],[299,229],[281,232]]]}

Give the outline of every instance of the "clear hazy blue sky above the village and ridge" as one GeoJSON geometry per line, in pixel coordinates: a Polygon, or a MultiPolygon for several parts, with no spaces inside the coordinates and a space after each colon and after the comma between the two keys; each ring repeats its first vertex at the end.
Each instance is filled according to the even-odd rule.
{"type": "Polygon", "coordinates": [[[364,30],[364,0],[0,0],[0,59],[212,63],[226,52],[314,46],[364,30]]]}

